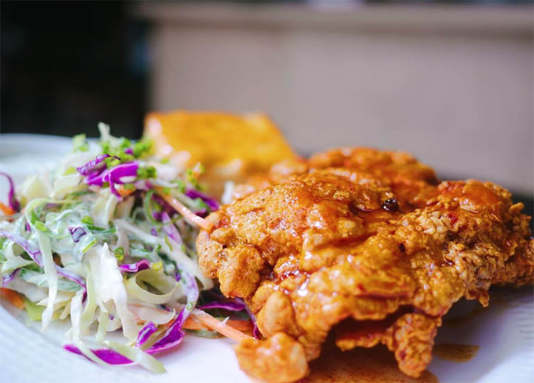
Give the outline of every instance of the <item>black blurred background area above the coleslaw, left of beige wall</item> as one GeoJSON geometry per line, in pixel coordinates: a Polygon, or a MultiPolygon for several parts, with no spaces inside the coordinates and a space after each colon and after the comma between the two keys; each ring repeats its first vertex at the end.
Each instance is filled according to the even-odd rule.
{"type": "Polygon", "coordinates": [[[146,33],[117,1],[1,2],[1,133],[139,137],[146,33]]]}

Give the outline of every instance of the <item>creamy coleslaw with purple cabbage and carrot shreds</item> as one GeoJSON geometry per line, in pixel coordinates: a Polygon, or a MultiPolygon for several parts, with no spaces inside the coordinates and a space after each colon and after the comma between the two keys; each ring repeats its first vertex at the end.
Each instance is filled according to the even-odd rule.
{"type": "Polygon", "coordinates": [[[179,174],[149,141],[98,128],[98,144],[74,137],[55,171],[28,177],[17,194],[0,172],[10,184],[0,203],[3,296],[42,330],[70,320],[64,348],[103,365],[163,372],[153,355],[175,348],[186,330],[259,337],[243,301],[221,296],[198,266],[198,228],[209,230],[205,216],[218,209],[201,191],[202,168],[179,174]],[[115,330],[123,343],[107,339],[115,330]]]}

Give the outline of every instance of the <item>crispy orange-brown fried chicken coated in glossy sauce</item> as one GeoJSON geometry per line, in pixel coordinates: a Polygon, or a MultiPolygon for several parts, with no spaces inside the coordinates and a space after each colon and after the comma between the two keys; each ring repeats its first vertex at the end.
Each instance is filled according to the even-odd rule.
{"type": "Polygon", "coordinates": [[[533,283],[530,217],[510,196],[490,182],[438,183],[405,153],[275,165],[197,240],[205,274],[246,299],[266,337],[236,347],[241,368],[297,381],[333,330],[342,350],[384,343],[418,377],[454,302],[486,306],[491,284],[533,283]]]}

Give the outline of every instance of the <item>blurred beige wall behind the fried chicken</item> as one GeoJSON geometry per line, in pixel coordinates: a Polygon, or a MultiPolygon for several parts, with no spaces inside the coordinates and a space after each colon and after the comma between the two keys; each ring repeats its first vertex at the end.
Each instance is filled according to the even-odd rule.
{"type": "Polygon", "coordinates": [[[399,148],[532,194],[531,8],[173,9],[139,12],[154,109],[264,110],[302,153],[399,148]]]}

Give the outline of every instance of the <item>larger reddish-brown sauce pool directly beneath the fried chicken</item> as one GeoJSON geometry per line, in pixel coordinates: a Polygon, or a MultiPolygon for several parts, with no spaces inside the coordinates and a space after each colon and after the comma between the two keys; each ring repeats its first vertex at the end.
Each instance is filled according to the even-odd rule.
{"type": "Polygon", "coordinates": [[[419,379],[401,373],[385,346],[343,352],[331,344],[325,345],[310,368],[310,375],[301,383],[438,383],[438,378],[428,370],[419,379]]]}

